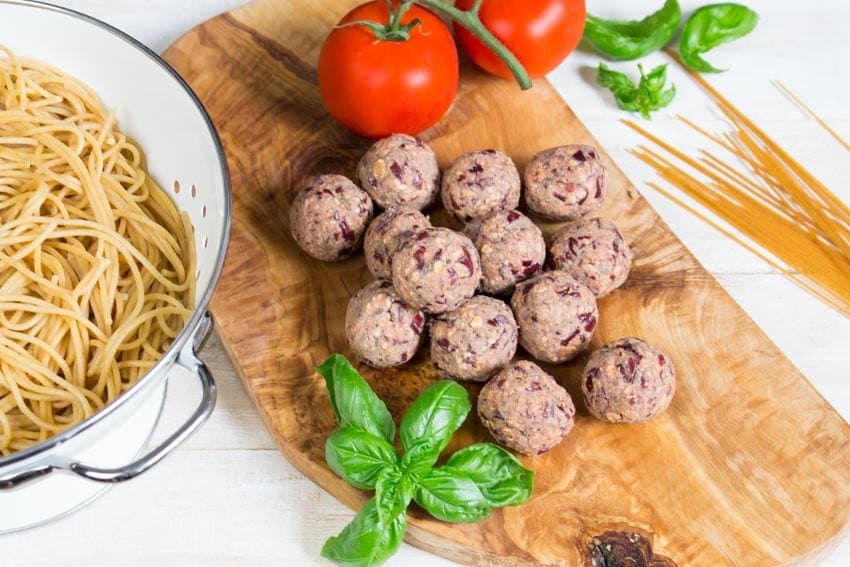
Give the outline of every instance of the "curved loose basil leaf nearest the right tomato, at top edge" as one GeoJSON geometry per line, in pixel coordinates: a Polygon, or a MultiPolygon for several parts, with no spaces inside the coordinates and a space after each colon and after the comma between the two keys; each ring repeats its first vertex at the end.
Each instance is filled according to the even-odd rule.
{"type": "Polygon", "coordinates": [[[666,0],[660,10],[640,21],[603,20],[588,14],[584,39],[608,59],[638,59],[664,47],[676,33],[681,19],[677,0],[666,0]]]}

